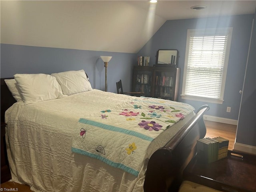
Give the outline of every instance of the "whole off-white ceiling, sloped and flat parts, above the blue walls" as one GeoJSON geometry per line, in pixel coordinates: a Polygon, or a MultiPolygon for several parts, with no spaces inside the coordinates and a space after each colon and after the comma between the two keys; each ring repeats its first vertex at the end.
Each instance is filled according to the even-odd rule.
{"type": "Polygon", "coordinates": [[[253,14],[256,1],[6,1],[1,43],[137,53],[166,20],[253,14]],[[191,6],[205,5],[202,11],[191,6]]]}

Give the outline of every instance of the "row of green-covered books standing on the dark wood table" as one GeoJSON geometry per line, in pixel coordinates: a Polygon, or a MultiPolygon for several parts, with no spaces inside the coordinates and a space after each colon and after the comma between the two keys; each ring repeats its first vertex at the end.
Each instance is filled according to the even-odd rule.
{"type": "Polygon", "coordinates": [[[222,137],[202,138],[197,140],[196,147],[200,160],[214,162],[228,156],[228,139],[222,137]]]}

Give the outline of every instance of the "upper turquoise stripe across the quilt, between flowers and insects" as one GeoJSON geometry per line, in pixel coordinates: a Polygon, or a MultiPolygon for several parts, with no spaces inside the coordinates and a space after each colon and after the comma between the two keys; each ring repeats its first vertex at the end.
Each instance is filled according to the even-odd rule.
{"type": "Polygon", "coordinates": [[[127,135],[136,136],[138,138],[141,138],[141,139],[147,140],[147,141],[153,141],[154,140],[154,138],[148,137],[144,134],[141,134],[141,133],[138,133],[138,132],[135,132],[135,131],[132,131],[132,130],[127,130],[127,129],[123,129],[123,128],[115,127],[115,126],[111,126],[111,125],[106,125],[106,124],[103,124],[103,123],[99,123],[99,122],[84,119],[84,118],[80,118],[79,122],[83,123],[83,124],[88,124],[88,125],[96,126],[96,127],[99,127],[99,128],[111,130],[111,131],[124,133],[124,134],[127,134],[127,135]]]}

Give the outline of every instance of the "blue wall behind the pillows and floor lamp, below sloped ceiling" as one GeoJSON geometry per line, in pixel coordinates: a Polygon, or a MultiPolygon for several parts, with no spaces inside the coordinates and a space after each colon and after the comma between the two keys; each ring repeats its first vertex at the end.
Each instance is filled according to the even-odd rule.
{"type": "Polygon", "coordinates": [[[84,69],[92,88],[105,90],[105,68],[100,56],[112,56],[108,63],[108,91],[116,92],[116,82],[122,79],[125,91],[131,90],[132,67],[136,54],[86,51],[34,46],[1,44],[1,78],[16,73],[63,72],[84,69]]]}

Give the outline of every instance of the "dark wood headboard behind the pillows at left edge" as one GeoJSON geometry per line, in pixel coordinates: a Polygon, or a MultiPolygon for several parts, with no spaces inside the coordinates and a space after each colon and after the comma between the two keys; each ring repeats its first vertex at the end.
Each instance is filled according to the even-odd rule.
{"type": "Polygon", "coordinates": [[[1,122],[4,122],[4,113],[5,111],[12,106],[16,102],[13,98],[12,93],[8,89],[6,83],[4,82],[5,79],[13,79],[13,78],[1,78],[1,122]]]}

